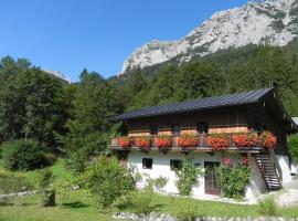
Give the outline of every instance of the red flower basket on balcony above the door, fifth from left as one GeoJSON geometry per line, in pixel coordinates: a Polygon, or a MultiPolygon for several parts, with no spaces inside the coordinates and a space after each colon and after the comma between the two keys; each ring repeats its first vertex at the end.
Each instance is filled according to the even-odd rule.
{"type": "Polygon", "coordinates": [[[230,147],[230,137],[227,134],[209,135],[206,144],[213,150],[226,150],[230,147]]]}

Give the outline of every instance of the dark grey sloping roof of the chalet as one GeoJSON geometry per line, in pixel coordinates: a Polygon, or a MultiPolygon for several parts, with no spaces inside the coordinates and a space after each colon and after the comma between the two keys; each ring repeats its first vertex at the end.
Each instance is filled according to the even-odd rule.
{"type": "Polygon", "coordinates": [[[269,92],[273,92],[274,87],[257,90],[252,92],[228,94],[214,97],[205,97],[194,99],[190,102],[180,102],[170,105],[151,106],[132,112],[127,112],[121,115],[113,117],[113,120],[131,119],[147,116],[157,116],[164,114],[174,114],[181,112],[192,112],[199,109],[210,109],[224,106],[237,106],[244,104],[258,103],[269,92]]]}

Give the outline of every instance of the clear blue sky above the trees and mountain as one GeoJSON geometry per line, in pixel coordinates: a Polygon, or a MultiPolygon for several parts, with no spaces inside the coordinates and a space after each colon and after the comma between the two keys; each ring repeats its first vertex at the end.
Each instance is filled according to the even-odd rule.
{"type": "Polygon", "coordinates": [[[177,40],[246,0],[0,0],[0,56],[25,57],[74,82],[105,77],[150,40],[177,40]]]}

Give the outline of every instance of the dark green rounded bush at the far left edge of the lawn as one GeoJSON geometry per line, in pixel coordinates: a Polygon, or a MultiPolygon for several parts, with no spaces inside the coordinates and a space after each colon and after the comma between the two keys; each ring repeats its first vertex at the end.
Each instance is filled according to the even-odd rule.
{"type": "Polygon", "coordinates": [[[3,166],[10,170],[32,170],[49,165],[44,147],[32,139],[7,141],[1,149],[3,166]]]}

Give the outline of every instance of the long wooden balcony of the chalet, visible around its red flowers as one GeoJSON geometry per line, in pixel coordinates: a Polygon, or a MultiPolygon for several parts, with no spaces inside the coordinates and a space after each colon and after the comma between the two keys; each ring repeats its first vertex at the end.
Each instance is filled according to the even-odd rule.
{"type": "MultiPolygon", "coordinates": [[[[228,147],[227,147],[227,151],[236,151],[236,152],[259,152],[263,147],[260,147],[259,145],[255,145],[254,147],[237,147],[234,144],[234,139],[233,139],[233,135],[234,134],[227,134],[228,136],[228,147]]],[[[198,135],[198,140],[199,140],[199,145],[194,148],[182,148],[179,146],[178,144],[178,139],[180,136],[170,136],[170,140],[171,140],[171,147],[169,148],[170,151],[201,151],[201,152],[212,152],[214,151],[214,149],[207,144],[207,137],[212,136],[210,134],[203,134],[203,135],[198,135]]],[[[157,147],[157,145],[155,144],[157,136],[150,136],[150,147],[148,148],[149,150],[159,150],[159,148],[157,147]]],[[[140,148],[137,147],[136,145],[136,139],[138,137],[129,137],[129,141],[130,141],[130,147],[129,148],[123,148],[119,145],[119,137],[113,137],[110,140],[110,149],[114,150],[140,150],[140,148]]]]}

